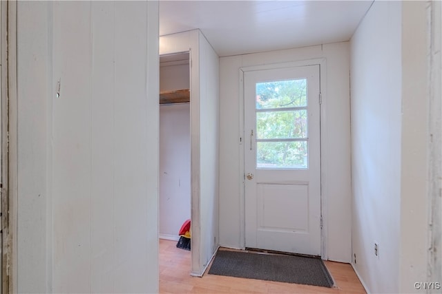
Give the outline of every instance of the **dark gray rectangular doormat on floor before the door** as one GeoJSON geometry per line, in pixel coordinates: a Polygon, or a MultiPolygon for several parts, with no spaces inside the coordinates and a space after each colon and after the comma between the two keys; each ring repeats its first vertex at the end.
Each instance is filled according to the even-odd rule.
{"type": "Polygon", "coordinates": [[[218,251],[209,275],[306,284],[331,288],[333,280],[319,258],[218,251]]]}

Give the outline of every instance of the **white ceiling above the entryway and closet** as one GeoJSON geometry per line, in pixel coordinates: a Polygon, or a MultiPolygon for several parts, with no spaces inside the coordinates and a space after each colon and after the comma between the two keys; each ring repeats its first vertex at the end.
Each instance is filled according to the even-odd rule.
{"type": "Polygon", "coordinates": [[[160,1],[160,36],[200,29],[219,56],[348,41],[372,1],[160,1]]]}

